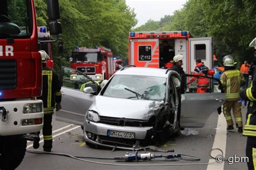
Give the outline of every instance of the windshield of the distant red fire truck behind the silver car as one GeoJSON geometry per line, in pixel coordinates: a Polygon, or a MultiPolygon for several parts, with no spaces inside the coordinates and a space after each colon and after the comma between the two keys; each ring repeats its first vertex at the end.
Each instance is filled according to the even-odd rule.
{"type": "Polygon", "coordinates": [[[100,62],[99,52],[73,52],[73,62],[98,63],[100,62]]]}

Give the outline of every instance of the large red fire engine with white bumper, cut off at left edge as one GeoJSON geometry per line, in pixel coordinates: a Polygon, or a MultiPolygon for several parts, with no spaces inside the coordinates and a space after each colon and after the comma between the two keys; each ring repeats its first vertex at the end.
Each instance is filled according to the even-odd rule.
{"type": "MultiPolygon", "coordinates": [[[[58,1],[47,4],[50,32],[57,40],[58,1]]],[[[42,59],[33,0],[0,1],[0,44],[0,169],[15,169],[25,155],[26,140],[35,138],[28,133],[43,127],[43,102],[37,100],[42,93],[42,59]],[[20,10],[14,12],[17,7],[20,10]]]]}

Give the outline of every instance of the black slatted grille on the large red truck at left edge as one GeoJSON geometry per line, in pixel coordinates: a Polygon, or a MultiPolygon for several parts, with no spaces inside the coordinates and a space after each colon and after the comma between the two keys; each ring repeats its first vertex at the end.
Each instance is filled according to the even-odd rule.
{"type": "Polygon", "coordinates": [[[0,89],[11,90],[17,85],[16,60],[0,60],[0,89]]]}

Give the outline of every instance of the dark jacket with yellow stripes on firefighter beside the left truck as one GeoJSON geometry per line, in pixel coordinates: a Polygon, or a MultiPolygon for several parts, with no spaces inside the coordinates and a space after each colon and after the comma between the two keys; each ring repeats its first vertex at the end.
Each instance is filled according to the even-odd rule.
{"type": "Polygon", "coordinates": [[[43,91],[42,96],[38,99],[43,100],[44,104],[44,114],[51,114],[55,108],[56,103],[62,101],[62,93],[60,89],[62,88],[59,83],[59,78],[57,73],[43,65],[43,91]]]}

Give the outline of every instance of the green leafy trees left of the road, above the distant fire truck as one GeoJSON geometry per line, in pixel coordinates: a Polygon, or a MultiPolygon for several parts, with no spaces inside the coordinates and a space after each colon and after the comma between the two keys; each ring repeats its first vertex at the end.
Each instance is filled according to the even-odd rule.
{"type": "MultiPolygon", "coordinates": [[[[45,0],[36,0],[37,24],[46,25],[48,21],[45,0]]],[[[128,57],[128,35],[136,25],[136,14],[125,0],[59,0],[62,23],[64,56],[59,58],[57,45],[53,44],[55,70],[70,66],[66,58],[76,46],[105,46],[114,56],[128,57]]]]}

